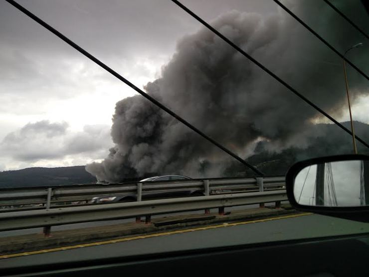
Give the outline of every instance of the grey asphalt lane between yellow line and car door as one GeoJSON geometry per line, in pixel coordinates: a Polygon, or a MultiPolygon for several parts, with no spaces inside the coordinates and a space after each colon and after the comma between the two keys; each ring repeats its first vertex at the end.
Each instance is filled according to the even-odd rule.
{"type": "Polygon", "coordinates": [[[258,223],[223,224],[222,226],[208,227],[209,229],[205,230],[189,229],[182,233],[159,234],[158,237],[0,259],[0,269],[43,265],[55,261],[63,263],[81,259],[125,257],[208,247],[369,233],[368,223],[320,215],[305,215],[258,223]]]}

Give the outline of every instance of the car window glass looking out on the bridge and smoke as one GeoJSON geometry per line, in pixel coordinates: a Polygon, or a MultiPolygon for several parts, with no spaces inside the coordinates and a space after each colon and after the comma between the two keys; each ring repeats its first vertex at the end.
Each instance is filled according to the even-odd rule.
{"type": "Polygon", "coordinates": [[[369,232],[285,193],[352,131],[369,154],[362,1],[334,1],[359,29],[325,1],[18,2],[56,31],[0,1],[0,269],[369,232]]]}

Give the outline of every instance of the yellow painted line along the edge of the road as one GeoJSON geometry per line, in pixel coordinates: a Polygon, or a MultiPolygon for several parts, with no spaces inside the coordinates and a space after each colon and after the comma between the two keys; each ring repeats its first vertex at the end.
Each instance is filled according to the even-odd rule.
{"type": "Polygon", "coordinates": [[[250,223],[267,222],[267,221],[272,221],[272,220],[287,219],[287,218],[301,217],[301,216],[307,216],[307,215],[311,215],[311,213],[303,213],[303,214],[296,214],[296,215],[289,215],[289,216],[280,216],[280,217],[258,219],[258,220],[252,220],[252,221],[244,221],[244,222],[223,223],[223,224],[219,224],[219,225],[212,225],[212,226],[206,226],[206,227],[197,227],[197,228],[191,228],[191,229],[186,229],[186,230],[178,230],[178,231],[156,233],[156,234],[143,235],[143,236],[137,236],[137,237],[114,239],[114,240],[110,240],[110,241],[95,242],[95,243],[72,245],[72,246],[65,246],[65,247],[58,247],[58,248],[51,248],[51,249],[44,249],[44,250],[37,250],[37,251],[30,251],[30,252],[23,252],[23,253],[16,253],[16,254],[1,255],[0,259],[14,258],[14,257],[28,256],[28,255],[35,255],[35,254],[43,254],[43,253],[56,252],[56,251],[62,251],[62,250],[70,250],[70,249],[90,247],[90,246],[106,245],[106,244],[112,244],[112,243],[121,243],[121,242],[134,241],[134,240],[142,240],[142,239],[148,239],[148,238],[154,238],[154,237],[169,236],[169,235],[175,235],[175,234],[182,234],[182,233],[188,233],[188,232],[194,232],[194,231],[202,231],[202,230],[209,230],[209,229],[215,229],[215,228],[223,228],[223,227],[244,225],[244,224],[250,224],[250,223]]]}

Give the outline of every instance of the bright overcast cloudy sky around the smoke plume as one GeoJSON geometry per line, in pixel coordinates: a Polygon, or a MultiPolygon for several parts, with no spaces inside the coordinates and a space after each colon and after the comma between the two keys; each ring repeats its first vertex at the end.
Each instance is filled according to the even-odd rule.
{"type": "MultiPolygon", "coordinates": [[[[141,88],[200,28],[170,0],[18,2],[141,88]]],[[[233,9],[281,12],[269,0],[183,3],[205,20],[233,9]]],[[[0,37],[0,171],[105,158],[115,104],[135,92],[5,1],[0,37]]],[[[368,110],[368,97],[355,99],[357,119],[369,123],[368,110]]]]}

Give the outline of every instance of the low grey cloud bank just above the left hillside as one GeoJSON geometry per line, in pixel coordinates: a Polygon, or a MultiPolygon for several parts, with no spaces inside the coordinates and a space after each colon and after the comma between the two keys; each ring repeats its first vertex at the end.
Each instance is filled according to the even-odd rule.
{"type": "Polygon", "coordinates": [[[68,130],[68,124],[43,120],[28,123],[21,129],[7,134],[0,143],[4,156],[23,162],[63,159],[68,155],[88,154],[96,157],[111,145],[109,127],[85,126],[81,132],[68,130]]]}

